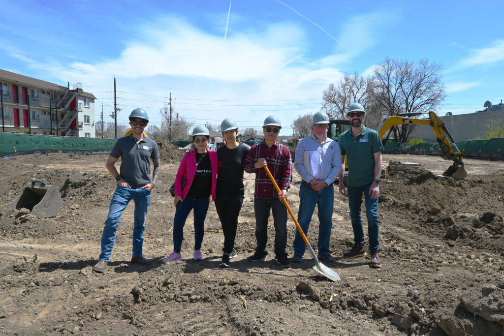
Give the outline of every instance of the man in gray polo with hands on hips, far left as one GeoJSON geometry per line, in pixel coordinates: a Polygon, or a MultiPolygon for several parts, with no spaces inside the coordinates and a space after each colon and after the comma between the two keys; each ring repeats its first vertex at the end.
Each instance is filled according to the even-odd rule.
{"type": "Polygon", "coordinates": [[[101,254],[93,271],[103,273],[114,247],[115,232],[121,220],[121,215],[130,203],[135,201],[133,228],[132,262],[142,265],[152,261],[143,256],[145,219],[151,203],[151,190],[156,185],[161,170],[159,149],[156,142],[145,136],[144,128],[149,122],[149,116],[143,108],[136,108],[130,114],[132,134],[120,138],[114,145],[107,160],[107,169],[117,181],[117,187],[110,202],[108,217],[101,237],[101,254]],[[115,163],[121,158],[120,174],[115,163]],[[151,180],[152,159],[154,170],[151,180]]]}

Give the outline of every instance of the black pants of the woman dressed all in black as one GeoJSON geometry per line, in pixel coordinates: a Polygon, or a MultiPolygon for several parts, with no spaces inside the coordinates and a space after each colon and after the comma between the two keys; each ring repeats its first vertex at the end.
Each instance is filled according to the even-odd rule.
{"type": "Polygon", "coordinates": [[[236,238],[238,215],[243,203],[243,195],[217,191],[214,203],[224,234],[224,253],[231,253],[234,249],[234,239],[236,238]]]}

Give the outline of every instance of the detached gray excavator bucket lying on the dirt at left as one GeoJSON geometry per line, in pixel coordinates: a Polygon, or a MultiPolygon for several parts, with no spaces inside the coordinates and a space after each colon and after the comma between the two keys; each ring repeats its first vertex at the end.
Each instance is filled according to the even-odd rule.
{"type": "Polygon", "coordinates": [[[21,195],[9,203],[9,208],[26,208],[39,218],[56,216],[61,206],[61,197],[56,187],[37,179],[32,179],[21,195]]]}

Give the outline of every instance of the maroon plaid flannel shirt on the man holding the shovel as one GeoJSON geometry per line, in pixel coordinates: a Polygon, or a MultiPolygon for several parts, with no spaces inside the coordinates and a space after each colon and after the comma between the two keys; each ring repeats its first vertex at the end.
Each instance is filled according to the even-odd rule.
{"type": "Polygon", "coordinates": [[[256,169],[254,165],[259,158],[265,158],[268,163],[268,169],[277,181],[280,189],[289,188],[292,182],[292,159],[287,147],[275,141],[271,148],[263,141],[252,146],[248,152],[243,169],[247,173],[256,173],[256,191],[255,197],[275,198],[278,197],[278,192],[271,182],[264,168],[256,169]]]}

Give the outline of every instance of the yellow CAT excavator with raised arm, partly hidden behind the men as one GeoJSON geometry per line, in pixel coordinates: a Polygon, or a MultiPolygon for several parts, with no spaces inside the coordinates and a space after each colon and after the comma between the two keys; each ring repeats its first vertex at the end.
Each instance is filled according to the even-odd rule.
{"type": "MultiPolygon", "coordinates": [[[[405,115],[397,115],[388,117],[378,131],[382,143],[385,146],[393,127],[403,124],[429,125],[434,131],[437,143],[439,144],[439,155],[445,160],[453,161],[453,164],[443,173],[443,176],[453,177],[455,179],[464,179],[467,172],[462,162],[462,152],[455,144],[450,132],[445,126],[445,123],[434,112],[429,112],[428,118],[417,119],[405,115]],[[453,147],[452,147],[453,145],[453,147]],[[455,150],[454,150],[455,148],[455,150]]],[[[411,114],[409,114],[411,116],[411,114]]],[[[350,129],[350,121],[348,119],[333,119],[329,120],[328,137],[338,141],[338,137],[345,131],[350,129]]],[[[345,162],[345,168],[348,169],[345,162]]]]}

